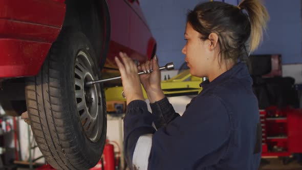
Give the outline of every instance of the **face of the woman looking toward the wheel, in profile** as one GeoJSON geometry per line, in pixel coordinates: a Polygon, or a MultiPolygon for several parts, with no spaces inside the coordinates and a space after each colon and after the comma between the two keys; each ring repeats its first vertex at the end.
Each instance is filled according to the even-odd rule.
{"type": "Polygon", "coordinates": [[[186,25],[186,45],[182,53],[186,55],[185,61],[190,68],[190,74],[197,77],[206,77],[213,62],[212,53],[209,50],[210,40],[202,40],[199,32],[195,31],[190,23],[186,25]]]}

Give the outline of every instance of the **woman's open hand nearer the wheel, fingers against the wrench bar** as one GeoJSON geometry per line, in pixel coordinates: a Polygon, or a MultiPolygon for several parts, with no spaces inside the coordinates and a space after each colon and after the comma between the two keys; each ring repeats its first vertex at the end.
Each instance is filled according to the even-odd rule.
{"type": "Polygon", "coordinates": [[[137,66],[126,53],[120,52],[119,55],[123,63],[118,57],[115,57],[115,61],[121,73],[126,103],[128,104],[133,100],[144,100],[137,66]]]}

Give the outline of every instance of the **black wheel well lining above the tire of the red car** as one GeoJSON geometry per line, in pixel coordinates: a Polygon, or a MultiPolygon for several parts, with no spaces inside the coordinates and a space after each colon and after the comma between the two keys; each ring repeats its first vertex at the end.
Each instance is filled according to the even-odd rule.
{"type": "Polygon", "coordinates": [[[102,68],[110,40],[110,15],[106,1],[66,0],[63,28],[68,27],[88,37],[102,68]]]}

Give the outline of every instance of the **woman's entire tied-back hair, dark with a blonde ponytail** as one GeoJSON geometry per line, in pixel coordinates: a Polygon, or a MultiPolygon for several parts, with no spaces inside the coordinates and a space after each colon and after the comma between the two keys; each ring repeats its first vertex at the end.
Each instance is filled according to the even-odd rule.
{"type": "Polygon", "coordinates": [[[201,34],[202,40],[208,39],[210,33],[217,33],[221,59],[230,58],[235,63],[247,50],[258,47],[268,19],[268,12],[259,0],[243,0],[239,6],[207,2],[187,14],[187,22],[201,34]],[[246,44],[250,45],[248,49],[246,44]]]}

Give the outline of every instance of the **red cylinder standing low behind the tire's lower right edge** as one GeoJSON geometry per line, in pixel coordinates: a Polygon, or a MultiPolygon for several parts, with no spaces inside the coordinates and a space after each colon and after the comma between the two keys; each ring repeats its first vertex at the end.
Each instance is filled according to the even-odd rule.
{"type": "Polygon", "coordinates": [[[103,160],[104,160],[104,170],[114,170],[114,146],[106,141],[104,152],[103,152],[103,160]]]}

